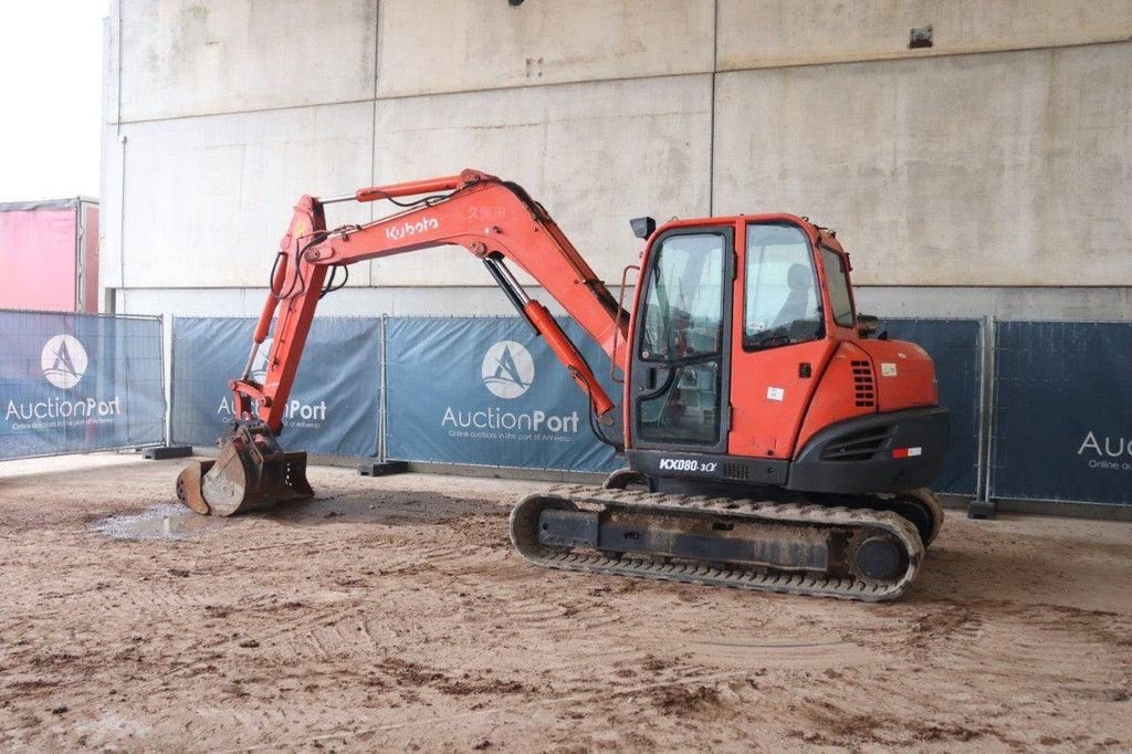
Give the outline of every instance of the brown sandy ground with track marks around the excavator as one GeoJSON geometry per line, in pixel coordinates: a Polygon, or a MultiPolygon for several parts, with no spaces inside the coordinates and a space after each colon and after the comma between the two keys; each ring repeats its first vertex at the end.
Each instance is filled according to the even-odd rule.
{"type": "Polygon", "coordinates": [[[316,468],[314,503],[186,521],[180,465],[0,463],[0,746],[1132,745],[1129,524],[953,512],[867,606],[535,568],[538,482],[316,468]]]}

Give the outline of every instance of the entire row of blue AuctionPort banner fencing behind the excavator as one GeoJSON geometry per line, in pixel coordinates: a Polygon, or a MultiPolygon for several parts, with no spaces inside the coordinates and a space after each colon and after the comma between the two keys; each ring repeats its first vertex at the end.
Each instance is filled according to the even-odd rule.
{"type": "MultiPolygon", "coordinates": [[[[0,312],[0,457],[160,444],[166,413],[171,443],[213,445],[252,328],[249,318],[174,317],[166,412],[160,318],[0,312]]],[[[618,395],[598,346],[573,322],[565,328],[618,395]]],[[[951,410],[937,491],[1132,504],[1132,325],[886,319],[882,331],[935,359],[951,410]]],[[[515,317],[317,318],[280,442],[434,464],[621,465],[566,370],[515,317]]]]}

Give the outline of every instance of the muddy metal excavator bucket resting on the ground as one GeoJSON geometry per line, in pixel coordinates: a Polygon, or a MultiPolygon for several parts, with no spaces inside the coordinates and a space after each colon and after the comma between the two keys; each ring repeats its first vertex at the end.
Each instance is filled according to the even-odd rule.
{"type": "Polygon", "coordinates": [[[215,461],[196,462],[177,479],[177,496],[197,513],[231,516],[305,500],[307,454],[285,453],[265,428],[241,426],[215,461]]]}

